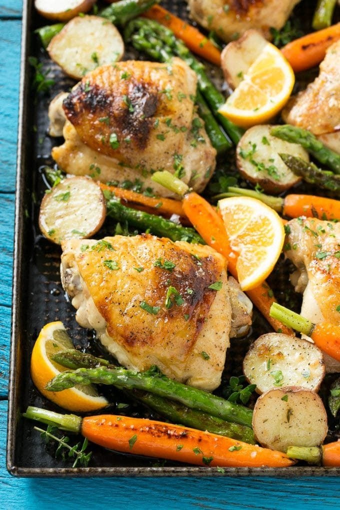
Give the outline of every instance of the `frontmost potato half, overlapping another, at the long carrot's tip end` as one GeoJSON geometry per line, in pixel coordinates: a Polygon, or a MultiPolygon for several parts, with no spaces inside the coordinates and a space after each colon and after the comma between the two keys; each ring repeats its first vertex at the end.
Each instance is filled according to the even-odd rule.
{"type": "Polygon", "coordinates": [[[252,425],[264,447],[286,452],[289,446],[319,446],[327,435],[327,413],[321,398],[303,388],[278,388],[261,395],[252,425]]]}

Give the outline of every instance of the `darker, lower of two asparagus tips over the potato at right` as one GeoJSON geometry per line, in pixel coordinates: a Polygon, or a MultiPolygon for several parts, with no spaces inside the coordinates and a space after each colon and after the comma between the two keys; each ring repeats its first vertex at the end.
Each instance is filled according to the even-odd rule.
{"type": "Polygon", "coordinates": [[[321,170],[314,163],[307,163],[303,159],[289,154],[280,154],[280,157],[292,172],[301,175],[307,183],[316,184],[320,188],[333,191],[335,196],[340,196],[340,175],[335,175],[328,170],[321,170]]]}

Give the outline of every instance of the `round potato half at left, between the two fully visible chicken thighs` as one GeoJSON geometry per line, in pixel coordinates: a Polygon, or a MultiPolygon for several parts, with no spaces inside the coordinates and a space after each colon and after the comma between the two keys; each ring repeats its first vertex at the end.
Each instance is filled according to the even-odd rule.
{"type": "Polygon", "coordinates": [[[42,199],[39,227],[56,244],[64,239],[93,236],[106,218],[106,201],[99,186],[88,177],[70,177],[42,199]]]}

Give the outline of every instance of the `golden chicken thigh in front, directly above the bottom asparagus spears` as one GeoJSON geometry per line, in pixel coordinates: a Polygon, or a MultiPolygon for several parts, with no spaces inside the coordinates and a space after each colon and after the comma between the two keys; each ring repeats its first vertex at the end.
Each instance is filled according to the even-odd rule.
{"type": "Polygon", "coordinates": [[[97,330],[119,363],[142,371],[157,365],[205,390],[219,386],[231,318],[219,253],[148,234],[72,239],[62,248],[62,282],[76,319],[97,330]],[[221,290],[209,288],[215,282],[221,290]]]}

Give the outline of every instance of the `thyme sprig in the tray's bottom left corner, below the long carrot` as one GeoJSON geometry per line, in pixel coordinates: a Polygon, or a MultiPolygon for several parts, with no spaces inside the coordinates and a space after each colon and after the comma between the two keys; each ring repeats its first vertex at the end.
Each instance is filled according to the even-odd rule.
{"type": "Polygon", "coordinates": [[[84,439],[82,446],[80,446],[80,443],[77,443],[74,446],[70,446],[68,444],[68,442],[70,440],[70,438],[68,436],[62,436],[61,438],[56,436],[56,434],[58,432],[57,427],[48,425],[46,430],[44,430],[40,427],[34,427],[34,428],[35,428],[35,430],[38,430],[40,432],[40,437],[45,441],[46,444],[49,443],[50,441],[56,441],[57,443],[59,443],[58,448],[56,450],[56,458],[60,455],[63,458],[63,460],[66,460],[66,455],[65,455],[65,453],[66,453],[65,449],[66,449],[66,450],[68,450],[68,457],[75,459],[74,463],[72,465],[72,468],[75,468],[78,465],[87,468],[87,466],[89,465],[89,462],[90,462],[91,455],[92,455],[91,451],[88,453],[85,452],[87,445],[88,445],[87,438],[84,439]]]}

